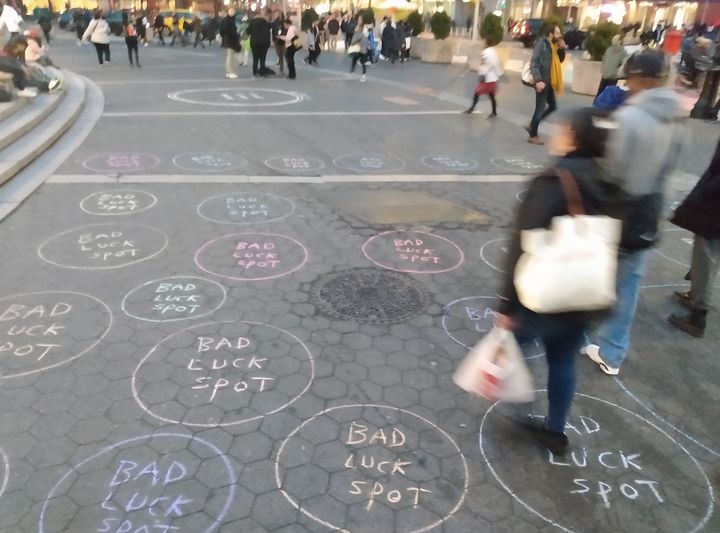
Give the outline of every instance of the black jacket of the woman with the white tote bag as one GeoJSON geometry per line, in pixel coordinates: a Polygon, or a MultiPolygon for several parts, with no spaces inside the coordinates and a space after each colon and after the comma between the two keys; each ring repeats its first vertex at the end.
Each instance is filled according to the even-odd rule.
{"type": "MultiPolygon", "coordinates": [[[[555,167],[569,170],[575,177],[580,188],[583,207],[588,215],[607,215],[613,218],[622,218],[622,201],[624,194],[615,185],[605,179],[605,172],[600,165],[590,157],[579,154],[569,154],[559,159],[555,167]]],[[[552,169],[540,174],[531,183],[527,195],[518,210],[517,221],[512,235],[507,262],[505,264],[505,279],[500,296],[499,312],[514,316],[522,308],[515,290],[515,267],[522,248],[520,246],[520,233],[526,229],[549,228],[554,217],[568,214],[567,199],[562,185],[552,169]]],[[[557,315],[563,320],[590,322],[601,318],[603,313],[575,312],[557,315]]]]}

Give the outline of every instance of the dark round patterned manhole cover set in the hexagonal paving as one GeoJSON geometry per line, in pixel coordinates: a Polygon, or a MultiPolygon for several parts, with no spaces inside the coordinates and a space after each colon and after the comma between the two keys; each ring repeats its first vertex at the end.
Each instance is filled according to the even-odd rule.
{"type": "Polygon", "coordinates": [[[322,278],[313,291],[323,311],[340,318],[389,324],[403,322],[425,308],[425,290],[412,278],[361,268],[322,278]]]}

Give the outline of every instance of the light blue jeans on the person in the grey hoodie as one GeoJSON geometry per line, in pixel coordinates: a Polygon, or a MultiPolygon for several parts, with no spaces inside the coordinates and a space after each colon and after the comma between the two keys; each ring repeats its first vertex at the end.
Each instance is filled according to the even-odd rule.
{"type": "Polygon", "coordinates": [[[649,250],[620,252],[617,272],[617,305],[595,334],[593,344],[612,368],[620,368],[630,347],[630,330],[637,310],[640,282],[645,275],[649,250]]]}

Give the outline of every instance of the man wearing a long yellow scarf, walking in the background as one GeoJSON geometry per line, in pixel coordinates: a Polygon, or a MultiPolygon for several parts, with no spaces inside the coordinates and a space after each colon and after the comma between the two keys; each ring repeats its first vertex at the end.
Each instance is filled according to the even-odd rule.
{"type": "Polygon", "coordinates": [[[561,63],[565,61],[565,42],[560,28],[552,26],[538,39],[530,60],[535,80],[535,113],[527,128],[530,144],[544,144],[538,136],[540,122],[557,109],[557,97],[563,93],[561,63]]]}

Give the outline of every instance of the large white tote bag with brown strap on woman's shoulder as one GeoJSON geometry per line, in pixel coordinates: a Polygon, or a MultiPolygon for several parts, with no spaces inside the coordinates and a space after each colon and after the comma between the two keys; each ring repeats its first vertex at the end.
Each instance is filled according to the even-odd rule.
{"type": "Polygon", "coordinates": [[[536,313],[600,311],[616,300],[618,245],[622,222],[586,215],[575,177],[555,169],[569,215],[552,219],[550,229],[523,230],[523,254],[515,267],[515,289],[536,313]]]}

